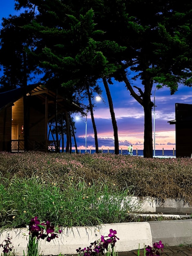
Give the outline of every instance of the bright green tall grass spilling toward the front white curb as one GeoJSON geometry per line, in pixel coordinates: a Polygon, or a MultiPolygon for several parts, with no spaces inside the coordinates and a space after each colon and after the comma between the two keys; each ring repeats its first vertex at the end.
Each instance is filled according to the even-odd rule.
{"type": "Polygon", "coordinates": [[[32,216],[60,223],[64,227],[125,222],[129,211],[130,188],[119,189],[105,180],[85,182],[69,177],[62,188],[44,177],[0,178],[0,227],[25,227],[32,216]]]}

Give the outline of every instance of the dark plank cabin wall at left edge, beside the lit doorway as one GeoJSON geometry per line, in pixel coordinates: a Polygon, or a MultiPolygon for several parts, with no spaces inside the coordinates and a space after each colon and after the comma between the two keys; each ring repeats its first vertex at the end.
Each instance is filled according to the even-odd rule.
{"type": "Polygon", "coordinates": [[[11,151],[11,106],[0,111],[0,151],[11,151]]]}

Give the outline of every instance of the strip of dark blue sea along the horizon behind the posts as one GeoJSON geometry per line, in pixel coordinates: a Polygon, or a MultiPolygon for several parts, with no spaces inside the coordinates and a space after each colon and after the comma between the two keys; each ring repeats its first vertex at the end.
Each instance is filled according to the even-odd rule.
{"type": "MultiPolygon", "coordinates": [[[[103,150],[99,150],[100,153],[111,153],[114,154],[115,151],[112,149],[103,149],[103,150]]],[[[72,153],[75,153],[75,150],[72,150],[72,153]]],[[[85,154],[85,153],[89,153],[89,154],[94,154],[95,150],[94,149],[89,149],[87,148],[87,152],[85,152],[85,149],[78,149],[78,153],[80,154],[85,154]]],[[[119,155],[128,155],[128,152],[126,149],[122,149],[119,150],[119,155]]],[[[153,151],[153,156],[154,157],[175,157],[176,155],[176,150],[155,150],[155,155],[154,155],[154,151],[153,151]]],[[[133,150],[133,156],[143,156],[143,150],[133,150]]]]}

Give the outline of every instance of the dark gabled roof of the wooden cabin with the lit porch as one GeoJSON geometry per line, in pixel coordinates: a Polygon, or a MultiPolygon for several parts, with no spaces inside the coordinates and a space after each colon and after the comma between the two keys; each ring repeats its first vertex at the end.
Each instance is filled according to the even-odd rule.
{"type": "MultiPolygon", "coordinates": [[[[7,108],[8,106],[13,106],[14,102],[18,101],[18,99],[23,97],[23,94],[24,88],[17,88],[14,90],[0,93],[0,110],[3,108],[7,108]]],[[[77,104],[69,101],[63,95],[65,95],[65,91],[58,90],[57,104],[61,111],[64,109],[68,111],[80,111],[81,108],[77,104]]],[[[55,108],[56,90],[54,91],[52,89],[47,89],[41,83],[27,85],[27,96],[36,96],[43,103],[45,103],[45,98],[47,97],[50,108],[51,106],[52,108],[55,108]]]]}

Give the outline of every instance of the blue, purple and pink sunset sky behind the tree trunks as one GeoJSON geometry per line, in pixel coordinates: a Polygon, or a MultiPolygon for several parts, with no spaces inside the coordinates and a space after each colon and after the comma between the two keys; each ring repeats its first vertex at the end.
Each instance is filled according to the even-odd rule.
{"type": "MultiPolygon", "coordinates": [[[[9,14],[16,14],[14,10],[14,0],[2,1],[0,4],[0,19],[8,17],[9,14]]],[[[1,26],[2,27],[2,26],[1,26]]],[[[2,73],[0,73],[1,75],[2,73]]],[[[101,81],[98,81],[103,92],[101,97],[103,101],[96,102],[94,117],[98,132],[99,148],[113,149],[114,136],[112,121],[105,94],[105,88],[101,81]]],[[[140,80],[136,82],[141,89],[140,80]]],[[[130,96],[129,91],[125,88],[124,83],[114,81],[114,85],[109,85],[114,104],[114,112],[118,126],[118,138],[120,149],[127,148],[129,144],[133,144],[134,149],[143,149],[144,135],[144,113],[143,107],[130,96]]],[[[152,90],[152,101],[154,100],[154,89],[152,90]]],[[[95,95],[97,96],[97,95],[95,95]]],[[[178,91],[174,95],[170,95],[168,88],[156,90],[155,93],[155,140],[156,149],[172,149],[175,148],[175,126],[167,123],[175,119],[175,103],[192,103],[192,88],[179,86],[178,91]]],[[[74,116],[75,117],[75,116],[74,116]]],[[[85,118],[82,118],[85,121],[85,118]]],[[[152,119],[154,120],[154,111],[152,111],[152,119]]],[[[154,136],[154,135],[153,135],[154,136]]],[[[78,148],[85,148],[85,123],[82,120],[76,121],[76,140],[78,148]]],[[[94,149],[94,132],[92,128],[91,117],[87,115],[87,147],[94,149]]]]}

